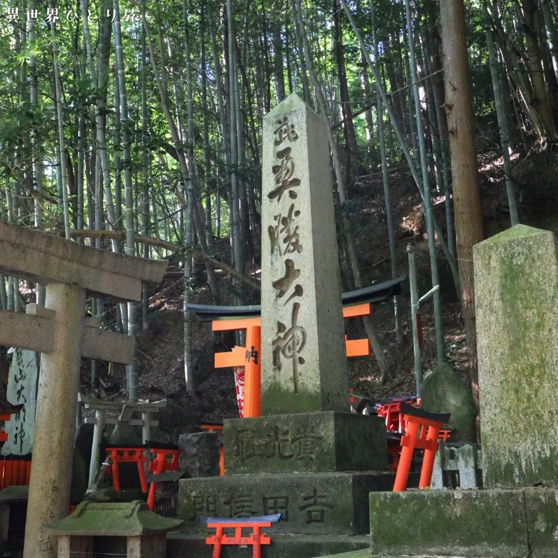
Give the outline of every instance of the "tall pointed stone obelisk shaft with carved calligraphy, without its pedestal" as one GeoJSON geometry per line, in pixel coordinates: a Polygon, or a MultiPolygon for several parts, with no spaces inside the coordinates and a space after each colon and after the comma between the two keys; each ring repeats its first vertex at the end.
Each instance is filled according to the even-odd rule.
{"type": "Polygon", "coordinates": [[[326,123],[294,93],[263,119],[262,414],[347,410],[326,123]]]}

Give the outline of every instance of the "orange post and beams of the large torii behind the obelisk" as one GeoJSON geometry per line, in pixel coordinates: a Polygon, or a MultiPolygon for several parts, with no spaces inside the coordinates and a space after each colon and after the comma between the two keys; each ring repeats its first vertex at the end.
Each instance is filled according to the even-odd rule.
{"type": "MultiPolygon", "coordinates": [[[[343,308],[344,318],[358,318],[370,316],[372,305],[365,304],[347,306],[343,308]]],[[[260,351],[261,351],[261,318],[214,320],[211,328],[214,331],[246,330],[246,347],[235,346],[232,351],[216,353],[215,368],[229,368],[244,366],[244,417],[260,416],[260,351]]],[[[368,339],[348,340],[345,335],[347,356],[366,356],[370,354],[368,339]]]]}

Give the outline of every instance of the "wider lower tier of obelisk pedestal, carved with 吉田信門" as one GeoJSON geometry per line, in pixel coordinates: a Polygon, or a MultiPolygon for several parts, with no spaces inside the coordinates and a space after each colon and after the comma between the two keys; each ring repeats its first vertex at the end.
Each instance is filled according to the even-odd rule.
{"type": "Polygon", "coordinates": [[[393,473],[225,475],[179,481],[184,531],[205,531],[202,516],[281,513],[274,533],[368,532],[368,493],[393,486],[393,473]]]}

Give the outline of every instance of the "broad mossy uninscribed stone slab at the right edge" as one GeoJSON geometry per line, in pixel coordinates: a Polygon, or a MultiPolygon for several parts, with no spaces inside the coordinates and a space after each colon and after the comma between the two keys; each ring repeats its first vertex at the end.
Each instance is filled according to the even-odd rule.
{"type": "Polygon", "coordinates": [[[484,487],[558,481],[558,258],[515,225],[473,249],[484,487]]]}

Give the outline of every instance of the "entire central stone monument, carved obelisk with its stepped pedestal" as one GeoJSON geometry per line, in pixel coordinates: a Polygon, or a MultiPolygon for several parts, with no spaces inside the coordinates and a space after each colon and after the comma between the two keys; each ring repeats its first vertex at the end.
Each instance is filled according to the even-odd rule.
{"type": "Polygon", "coordinates": [[[391,490],[393,473],[384,421],[348,412],[326,123],[295,94],[264,118],[262,200],[263,416],[225,420],[224,477],[180,481],[183,529],[281,513],[266,556],[355,550],[367,543],[368,493],[391,490]]]}

